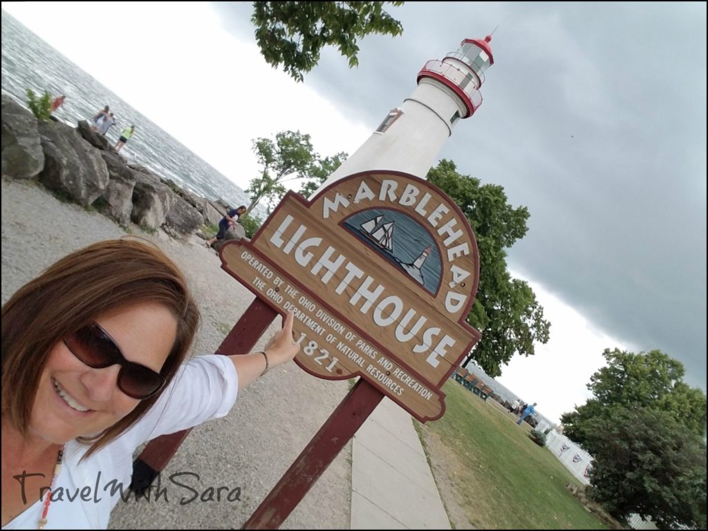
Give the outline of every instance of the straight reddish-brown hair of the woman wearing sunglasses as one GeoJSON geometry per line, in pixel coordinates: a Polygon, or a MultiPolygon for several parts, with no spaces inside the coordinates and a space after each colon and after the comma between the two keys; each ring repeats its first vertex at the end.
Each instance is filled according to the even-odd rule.
{"type": "MultiPolygon", "coordinates": [[[[50,351],[97,317],[143,302],[171,310],[177,334],[161,375],[169,383],[199,326],[199,310],[178,267],[147,240],[94,243],[48,267],[2,308],[2,414],[26,436],[39,380],[50,351]]],[[[142,400],[116,424],[79,438],[96,452],[132,426],[164,392],[142,400]]]]}

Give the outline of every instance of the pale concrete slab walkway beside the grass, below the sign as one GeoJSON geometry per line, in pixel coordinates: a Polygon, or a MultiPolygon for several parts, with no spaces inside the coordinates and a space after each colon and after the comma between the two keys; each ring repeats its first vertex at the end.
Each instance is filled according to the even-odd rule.
{"type": "Polygon", "coordinates": [[[354,436],[351,529],[450,529],[411,416],[384,398],[354,436]]]}

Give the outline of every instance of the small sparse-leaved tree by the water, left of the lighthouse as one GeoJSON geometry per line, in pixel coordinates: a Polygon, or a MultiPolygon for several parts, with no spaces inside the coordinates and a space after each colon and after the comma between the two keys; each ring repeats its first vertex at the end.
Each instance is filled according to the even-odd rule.
{"type": "Polygon", "coordinates": [[[268,202],[268,210],[285,195],[283,182],[309,175],[316,156],[309,134],[299,131],[283,131],[275,135],[275,141],[258,138],[253,141],[253,151],[261,176],[251,179],[246,192],[251,194],[250,212],[261,200],[268,202]]]}

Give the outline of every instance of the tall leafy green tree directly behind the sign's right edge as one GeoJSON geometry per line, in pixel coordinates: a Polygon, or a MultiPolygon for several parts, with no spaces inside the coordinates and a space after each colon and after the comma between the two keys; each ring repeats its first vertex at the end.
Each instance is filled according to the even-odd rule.
{"type": "Polygon", "coordinates": [[[515,353],[530,356],[535,342],[549,339],[551,325],[535,293],[527,282],[512,279],[506,266],[505,249],[528,230],[528,209],[510,206],[503,187],[460,175],[452,161],[431,168],[428,181],[459,205],[479,247],[479,284],[467,322],[482,338],[463,365],[474,359],[487,374],[498,376],[515,353]]]}

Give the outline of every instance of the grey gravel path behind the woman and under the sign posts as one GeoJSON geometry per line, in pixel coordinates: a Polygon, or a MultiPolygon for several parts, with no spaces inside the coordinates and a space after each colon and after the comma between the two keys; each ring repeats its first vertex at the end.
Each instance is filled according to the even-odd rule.
{"type": "MultiPolygon", "coordinates": [[[[253,295],[221,269],[215,252],[192,236],[174,240],[130,227],[153,240],[185,272],[202,312],[195,354],[217,349],[244,313],[253,295]]],[[[59,202],[34,182],[2,179],[2,303],[56,259],[89,243],[119,238],[125,232],[109,218],[75,204],[59,202]]],[[[47,301],[51,303],[50,300],[47,301]]],[[[280,318],[268,334],[280,327],[280,318]]],[[[265,343],[261,339],[262,346],[265,343]]],[[[232,412],[191,431],[161,476],[168,501],[119,503],[110,529],[240,528],[348,392],[346,381],[308,375],[295,363],[280,366],[246,388],[232,412]],[[226,486],[241,488],[240,501],[193,501],[192,494],[169,482],[183,477],[200,494],[226,486]]],[[[351,495],[351,442],[320,477],[281,526],[283,529],[348,529],[351,495]]],[[[208,494],[207,496],[208,497],[208,494]]],[[[216,497],[216,496],[214,496],[216,497]]]]}

